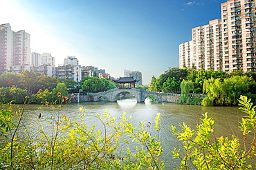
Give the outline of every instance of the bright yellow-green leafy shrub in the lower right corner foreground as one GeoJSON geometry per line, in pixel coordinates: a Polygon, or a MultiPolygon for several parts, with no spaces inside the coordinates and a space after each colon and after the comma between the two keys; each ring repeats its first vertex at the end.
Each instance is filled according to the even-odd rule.
{"type": "Polygon", "coordinates": [[[235,136],[232,138],[214,135],[214,120],[204,114],[200,125],[191,129],[185,123],[181,131],[170,126],[174,135],[179,138],[182,149],[172,151],[173,158],[181,159],[181,169],[253,169],[255,168],[255,106],[246,96],[241,96],[239,105],[247,116],[241,119],[240,129],[243,131],[244,141],[239,142],[235,136]],[[252,134],[253,132],[253,134],[252,134]],[[246,147],[246,136],[252,134],[253,141],[246,147]]]}

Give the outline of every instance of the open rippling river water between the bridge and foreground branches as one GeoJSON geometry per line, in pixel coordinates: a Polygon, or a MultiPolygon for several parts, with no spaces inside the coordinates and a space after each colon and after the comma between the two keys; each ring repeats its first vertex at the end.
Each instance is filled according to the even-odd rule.
{"type": "MultiPolygon", "coordinates": [[[[179,124],[185,122],[190,127],[194,128],[199,124],[200,118],[203,118],[202,114],[208,112],[208,116],[215,120],[215,135],[218,136],[231,136],[231,134],[238,135],[238,125],[241,120],[241,116],[244,113],[241,112],[238,107],[202,107],[196,105],[179,105],[176,103],[150,103],[146,100],[145,103],[136,103],[135,99],[118,100],[118,103],[108,102],[86,102],[86,103],[69,103],[62,107],[61,114],[65,114],[68,118],[73,118],[78,114],[80,107],[84,107],[89,114],[104,114],[105,109],[109,111],[111,116],[120,117],[123,112],[126,116],[131,116],[131,123],[138,125],[138,121],[154,123],[154,117],[157,113],[161,113],[162,129],[160,133],[161,143],[164,148],[163,159],[172,164],[177,164],[178,160],[172,160],[170,151],[178,145],[178,141],[170,131],[170,125],[179,127],[179,124]]],[[[41,113],[40,118],[41,125],[46,123],[46,118],[53,116],[51,109],[46,109],[46,106],[42,105],[28,105],[26,107],[26,113],[24,115],[24,124],[35,123],[38,121],[37,117],[41,113]],[[41,109],[38,109],[38,108],[41,109]],[[45,121],[45,122],[44,122],[45,121]]],[[[35,128],[36,129],[36,128],[35,128]]],[[[166,164],[167,169],[170,166],[166,164]]],[[[171,167],[170,167],[171,169],[171,167]]]]}

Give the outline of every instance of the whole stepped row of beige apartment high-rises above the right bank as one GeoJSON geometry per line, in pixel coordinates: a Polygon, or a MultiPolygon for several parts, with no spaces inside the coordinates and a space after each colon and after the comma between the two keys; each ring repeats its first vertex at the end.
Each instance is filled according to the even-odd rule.
{"type": "Polygon", "coordinates": [[[256,71],[255,9],[255,0],[221,3],[221,20],[193,28],[192,45],[179,45],[180,67],[225,72],[256,71]],[[181,54],[184,50],[190,52],[181,54]]]}

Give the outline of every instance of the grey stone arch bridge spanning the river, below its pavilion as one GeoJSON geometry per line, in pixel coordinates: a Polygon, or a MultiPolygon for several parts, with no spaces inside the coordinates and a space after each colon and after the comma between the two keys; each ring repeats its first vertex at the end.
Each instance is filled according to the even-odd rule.
{"type": "Polygon", "coordinates": [[[164,93],[157,93],[157,92],[147,92],[145,89],[110,89],[106,92],[98,92],[98,93],[89,93],[88,97],[91,101],[99,101],[101,98],[109,100],[109,102],[116,102],[118,100],[119,95],[122,92],[129,92],[134,94],[138,103],[144,102],[145,99],[149,96],[154,96],[156,101],[162,102],[162,96],[167,96],[164,93]]]}

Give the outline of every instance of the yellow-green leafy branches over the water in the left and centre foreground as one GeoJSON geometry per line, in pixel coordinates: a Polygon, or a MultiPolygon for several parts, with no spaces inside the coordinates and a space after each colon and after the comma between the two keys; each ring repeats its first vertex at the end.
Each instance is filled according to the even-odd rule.
{"type": "Polygon", "coordinates": [[[161,129],[159,114],[152,127],[140,123],[136,129],[125,114],[113,118],[108,111],[103,116],[93,116],[86,114],[83,108],[80,110],[85,114],[75,120],[60,112],[57,119],[49,119],[51,133],[42,127],[39,138],[30,138],[32,134],[28,134],[26,140],[15,139],[12,159],[10,144],[1,148],[0,169],[163,169],[161,142],[149,130],[153,127],[158,134],[161,129]],[[98,120],[102,126],[88,127],[87,117],[98,120]],[[136,150],[118,149],[127,143],[136,145],[136,150]]]}

